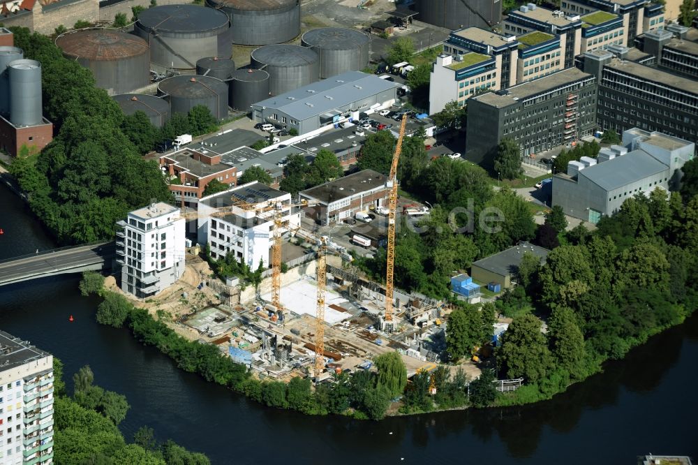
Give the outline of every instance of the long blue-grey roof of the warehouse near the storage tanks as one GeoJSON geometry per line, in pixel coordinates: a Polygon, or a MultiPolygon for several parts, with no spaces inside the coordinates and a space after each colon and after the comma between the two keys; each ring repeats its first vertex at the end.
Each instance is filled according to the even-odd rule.
{"type": "Polygon", "coordinates": [[[274,108],[293,119],[303,120],[332,112],[336,108],[346,107],[366,97],[397,87],[399,84],[380,79],[376,75],[349,71],[267,98],[252,106],[274,108]]]}

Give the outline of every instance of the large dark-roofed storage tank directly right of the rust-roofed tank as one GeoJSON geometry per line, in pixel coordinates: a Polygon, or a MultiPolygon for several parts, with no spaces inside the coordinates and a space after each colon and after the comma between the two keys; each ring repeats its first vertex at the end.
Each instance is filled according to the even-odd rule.
{"type": "MultiPolygon", "coordinates": [[[[213,8],[164,5],[143,10],[135,33],[150,44],[150,61],[154,64],[194,69],[198,59],[221,54],[218,36],[226,34],[229,27],[228,15],[213,8]]],[[[230,43],[227,49],[223,53],[230,55],[230,43]]]]}

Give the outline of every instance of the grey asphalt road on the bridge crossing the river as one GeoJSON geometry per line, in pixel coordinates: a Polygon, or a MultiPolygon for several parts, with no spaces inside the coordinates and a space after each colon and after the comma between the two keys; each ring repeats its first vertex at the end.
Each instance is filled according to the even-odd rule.
{"type": "Polygon", "coordinates": [[[70,267],[95,265],[114,256],[114,244],[78,246],[74,249],[45,252],[0,263],[0,286],[70,267]]]}

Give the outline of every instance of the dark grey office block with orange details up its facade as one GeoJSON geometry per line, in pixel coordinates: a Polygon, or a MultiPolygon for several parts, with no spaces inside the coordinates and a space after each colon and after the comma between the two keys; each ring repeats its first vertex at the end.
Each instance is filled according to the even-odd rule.
{"type": "Polygon", "coordinates": [[[595,118],[595,77],[577,68],[475,96],[468,102],[466,158],[491,165],[503,138],[535,157],[591,135],[595,118]]]}

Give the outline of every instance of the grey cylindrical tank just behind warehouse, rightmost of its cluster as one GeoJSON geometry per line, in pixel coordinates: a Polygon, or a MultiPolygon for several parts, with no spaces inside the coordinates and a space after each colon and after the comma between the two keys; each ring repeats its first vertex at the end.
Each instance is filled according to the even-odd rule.
{"type": "Polygon", "coordinates": [[[320,79],[369,65],[369,36],[357,29],[323,27],[303,34],[301,44],[320,55],[320,79]]]}

